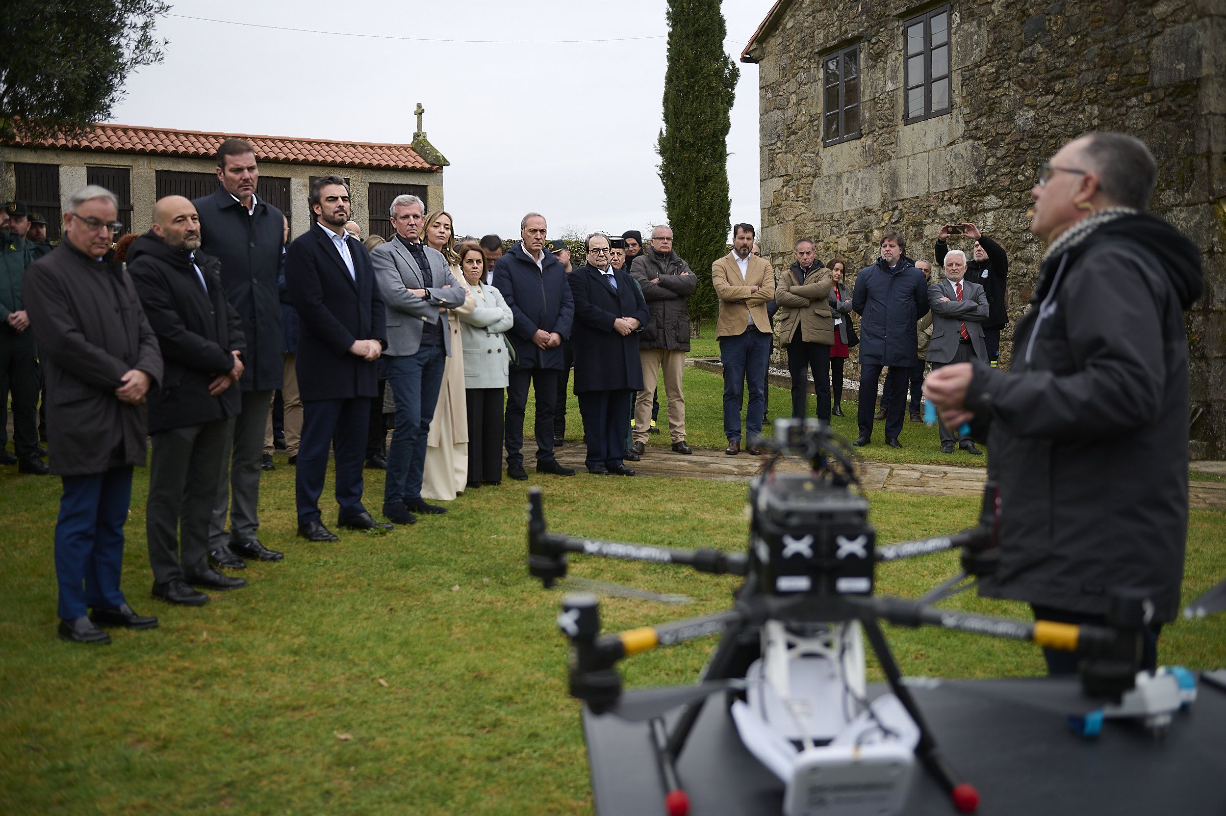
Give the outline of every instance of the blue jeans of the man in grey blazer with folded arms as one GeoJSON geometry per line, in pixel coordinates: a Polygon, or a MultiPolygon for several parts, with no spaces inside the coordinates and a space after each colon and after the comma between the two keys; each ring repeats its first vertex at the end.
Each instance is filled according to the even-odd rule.
{"type": "Polygon", "coordinates": [[[422,346],[416,355],[385,357],[387,385],[396,400],[396,428],[387,445],[384,504],[422,498],[425,438],[439,402],[446,355],[443,346],[422,346]]]}

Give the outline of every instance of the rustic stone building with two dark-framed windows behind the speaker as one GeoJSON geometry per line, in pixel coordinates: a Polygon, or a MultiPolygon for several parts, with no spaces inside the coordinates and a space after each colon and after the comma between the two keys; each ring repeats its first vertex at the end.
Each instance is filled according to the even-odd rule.
{"type": "Polygon", "coordinates": [[[1193,455],[1226,458],[1226,0],[779,0],[742,61],[759,65],[776,266],[802,237],[864,266],[885,227],[931,259],[942,223],[971,221],[1009,253],[1014,321],[1042,256],[1026,215],[1038,164],[1087,130],[1141,137],[1151,210],[1204,253],[1193,455]]]}

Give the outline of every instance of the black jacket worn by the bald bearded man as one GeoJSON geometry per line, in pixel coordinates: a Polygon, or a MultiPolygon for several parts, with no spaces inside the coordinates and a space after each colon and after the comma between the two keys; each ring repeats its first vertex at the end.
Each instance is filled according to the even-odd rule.
{"type": "Polygon", "coordinates": [[[195,264],[207,292],[191,254],[167,245],[152,231],[128,250],[128,272],[164,366],[161,388],[148,395],[150,433],[227,420],[242,410],[237,383],[217,396],[208,393],[213,379],[233,371],[230,352],[246,348],[238,312],[226,299],[221,263],[197,250],[195,264]]]}

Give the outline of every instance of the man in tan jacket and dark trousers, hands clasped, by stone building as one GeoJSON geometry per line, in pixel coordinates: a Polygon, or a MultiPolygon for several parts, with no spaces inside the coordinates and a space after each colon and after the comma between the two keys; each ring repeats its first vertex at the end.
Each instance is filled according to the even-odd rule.
{"type": "Polygon", "coordinates": [[[801,276],[801,265],[779,276],[775,286],[775,333],[779,345],[787,348],[787,369],[792,374],[792,416],[804,417],[804,400],[808,396],[808,372],[818,393],[818,418],[830,422],[830,346],[835,341],[835,323],[830,317],[830,287],[832,279],[826,268],[809,268],[801,276]],[[808,371],[805,371],[808,369],[808,371]]]}

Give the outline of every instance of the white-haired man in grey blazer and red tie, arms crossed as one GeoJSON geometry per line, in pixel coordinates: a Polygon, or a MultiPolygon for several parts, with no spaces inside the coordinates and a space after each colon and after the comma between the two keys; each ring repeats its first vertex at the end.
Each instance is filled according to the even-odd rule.
{"type": "MultiPolygon", "coordinates": [[[[950,363],[987,362],[988,358],[982,325],[988,317],[988,296],[978,283],[962,280],[965,275],[966,255],[961,249],[951,249],[945,255],[945,277],[928,285],[932,310],[928,362],[934,371],[950,363]]],[[[954,432],[939,418],[938,423],[940,452],[954,453],[954,432]]],[[[975,455],[981,453],[969,436],[961,436],[958,445],[975,455]]]]}

